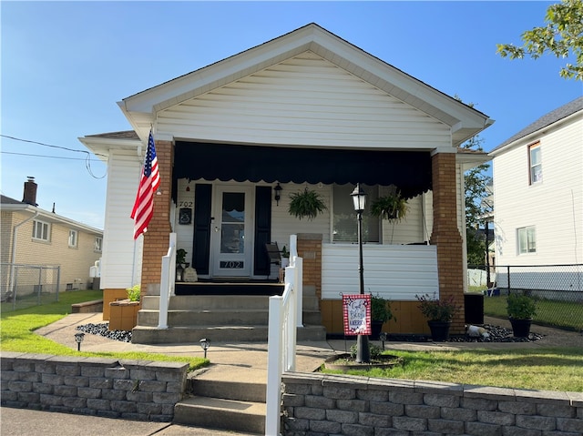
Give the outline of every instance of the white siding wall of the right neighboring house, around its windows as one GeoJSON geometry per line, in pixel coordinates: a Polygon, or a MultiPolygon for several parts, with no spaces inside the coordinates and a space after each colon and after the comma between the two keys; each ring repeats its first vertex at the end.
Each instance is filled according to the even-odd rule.
{"type": "Polygon", "coordinates": [[[497,265],[583,262],[583,115],[494,158],[497,265]],[[543,180],[529,185],[528,145],[540,142],[543,180]],[[517,228],[534,226],[537,252],[518,255],[517,228]]]}

